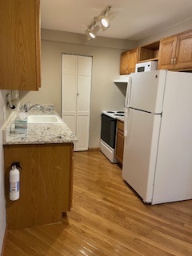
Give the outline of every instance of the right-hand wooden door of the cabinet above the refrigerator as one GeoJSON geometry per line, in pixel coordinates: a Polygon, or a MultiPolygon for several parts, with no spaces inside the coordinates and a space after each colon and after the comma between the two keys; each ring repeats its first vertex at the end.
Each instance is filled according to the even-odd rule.
{"type": "Polygon", "coordinates": [[[192,31],[178,35],[174,69],[192,67],[192,31]]]}

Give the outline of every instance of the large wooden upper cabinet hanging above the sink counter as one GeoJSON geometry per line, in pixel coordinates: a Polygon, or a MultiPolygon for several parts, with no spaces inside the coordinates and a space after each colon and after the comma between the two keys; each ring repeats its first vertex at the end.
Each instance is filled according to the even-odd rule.
{"type": "Polygon", "coordinates": [[[40,1],[0,0],[0,90],[38,90],[40,1]]]}

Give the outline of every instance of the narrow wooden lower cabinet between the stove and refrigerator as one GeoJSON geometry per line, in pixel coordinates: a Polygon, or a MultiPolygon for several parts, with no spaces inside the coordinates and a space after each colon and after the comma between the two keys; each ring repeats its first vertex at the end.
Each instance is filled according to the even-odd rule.
{"type": "Polygon", "coordinates": [[[122,164],[124,150],[124,122],[118,120],[115,158],[122,164]]]}

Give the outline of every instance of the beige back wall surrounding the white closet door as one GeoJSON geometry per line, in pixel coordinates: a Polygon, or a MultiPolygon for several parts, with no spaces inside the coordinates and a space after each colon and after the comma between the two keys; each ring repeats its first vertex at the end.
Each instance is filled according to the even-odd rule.
{"type": "MultiPolygon", "coordinates": [[[[50,31],[51,36],[52,33],[53,31],[50,31]]],[[[98,148],[102,110],[124,108],[125,96],[121,88],[113,82],[119,77],[122,44],[119,46],[116,39],[115,42],[110,40],[113,42],[111,46],[109,40],[106,46],[104,43],[103,46],[91,46],[60,42],[65,38],[61,39],[61,32],[58,32],[58,35],[58,40],[55,34],[56,41],[50,41],[47,39],[47,34],[44,37],[42,34],[42,88],[38,92],[21,92],[21,102],[53,103],[58,114],[61,114],[61,54],[93,56],[89,148],[98,148]]]]}

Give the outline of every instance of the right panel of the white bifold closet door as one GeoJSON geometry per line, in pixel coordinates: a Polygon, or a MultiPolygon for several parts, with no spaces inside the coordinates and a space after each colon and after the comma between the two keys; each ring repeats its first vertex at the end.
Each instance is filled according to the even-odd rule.
{"type": "Polygon", "coordinates": [[[91,69],[92,58],[78,56],[76,150],[88,150],[89,147],[91,69]]]}

